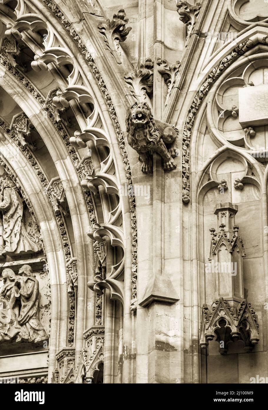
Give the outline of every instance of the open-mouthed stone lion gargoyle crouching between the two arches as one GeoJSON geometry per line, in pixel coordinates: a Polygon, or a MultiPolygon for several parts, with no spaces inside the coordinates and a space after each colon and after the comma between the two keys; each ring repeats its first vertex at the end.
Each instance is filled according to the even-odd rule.
{"type": "Polygon", "coordinates": [[[126,111],[128,144],[139,154],[142,172],[153,172],[152,154],[161,155],[164,170],[176,168],[172,158],[178,156],[178,130],[167,123],[155,120],[146,102],[134,103],[126,111]]]}

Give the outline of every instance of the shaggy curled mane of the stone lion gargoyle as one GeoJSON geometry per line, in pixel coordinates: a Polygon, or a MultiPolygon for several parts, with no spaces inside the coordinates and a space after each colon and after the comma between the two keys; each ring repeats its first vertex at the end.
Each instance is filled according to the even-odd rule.
{"type": "MultiPolygon", "coordinates": [[[[160,131],[158,130],[151,109],[148,107],[147,121],[139,128],[144,134],[146,141],[146,150],[150,151],[158,143],[160,139],[160,131]]],[[[136,124],[132,121],[131,107],[128,107],[126,111],[126,132],[128,133],[128,144],[135,150],[140,150],[140,142],[136,138],[136,133],[139,132],[136,124]]],[[[144,148],[144,147],[143,147],[144,148]]]]}

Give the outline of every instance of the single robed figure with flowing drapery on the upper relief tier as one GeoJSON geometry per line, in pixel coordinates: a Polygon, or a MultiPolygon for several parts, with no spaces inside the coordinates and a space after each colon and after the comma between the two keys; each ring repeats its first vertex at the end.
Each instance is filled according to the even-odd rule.
{"type": "Polygon", "coordinates": [[[26,232],[23,223],[23,203],[10,178],[0,180],[0,255],[39,251],[39,246],[26,232]]]}

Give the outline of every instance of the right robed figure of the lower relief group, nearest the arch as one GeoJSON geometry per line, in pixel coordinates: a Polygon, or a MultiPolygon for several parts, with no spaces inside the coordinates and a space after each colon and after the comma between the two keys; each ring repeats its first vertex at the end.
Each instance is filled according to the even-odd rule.
{"type": "Polygon", "coordinates": [[[39,283],[31,266],[23,265],[19,272],[22,279],[17,280],[20,287],[20,316],[18,323],[29,335],[29,342],[39,342],[47,339],[47,334],[38,318],[39,283]]]}

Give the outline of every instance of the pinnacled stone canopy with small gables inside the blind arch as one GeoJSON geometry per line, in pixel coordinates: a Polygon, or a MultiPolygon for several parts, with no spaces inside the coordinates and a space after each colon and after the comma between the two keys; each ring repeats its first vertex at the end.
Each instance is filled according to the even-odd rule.
{"type": "Polygon", "coordinates": [[[210,228],[212,305],[203,304],[200,326],[200,348],[209,341],[220,344],[219,353],[226,355],[232,342],[242,342],[251,352],[259,342],[257,314],[244,295],[243,258],[246,256],[239,226],[235,224],[238,206],[220,203],[214,208],[218,232],[210,228]]]}

